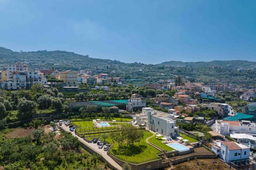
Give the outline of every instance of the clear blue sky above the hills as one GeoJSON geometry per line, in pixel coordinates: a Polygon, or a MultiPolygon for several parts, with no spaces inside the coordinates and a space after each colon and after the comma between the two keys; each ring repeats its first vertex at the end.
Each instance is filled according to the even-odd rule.
{"type": "Polygon", "coordinates": [[[256,61],[256,1],[0,0],[0,46],[123,62],[256,61]]]}

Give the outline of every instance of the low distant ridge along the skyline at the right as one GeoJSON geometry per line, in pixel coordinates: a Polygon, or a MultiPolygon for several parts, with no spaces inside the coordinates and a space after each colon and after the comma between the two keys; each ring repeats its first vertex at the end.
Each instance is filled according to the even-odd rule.
{"type": "Polygon", "coordinates": [[[173,66],[173,67],[193,67],[193,68],[204,68],[204,67],[221,67],[229,69],[255,69],[256,62],[245,61],[245,60],[230,60],[230,61],[199,61],[199,62],[182,62],[182,61],[167,61],[159,64],[160,66],[173,66]]]}

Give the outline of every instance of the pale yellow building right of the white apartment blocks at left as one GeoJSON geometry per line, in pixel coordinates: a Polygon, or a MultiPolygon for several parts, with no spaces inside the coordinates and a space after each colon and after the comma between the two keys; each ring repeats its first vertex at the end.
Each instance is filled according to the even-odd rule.
{"type": "Polygon", "coordinates": [[[66,86],[77,85],[77,73],[75,71],[61,71],[56,78],[63,80],[63,84],[66,86]]]}

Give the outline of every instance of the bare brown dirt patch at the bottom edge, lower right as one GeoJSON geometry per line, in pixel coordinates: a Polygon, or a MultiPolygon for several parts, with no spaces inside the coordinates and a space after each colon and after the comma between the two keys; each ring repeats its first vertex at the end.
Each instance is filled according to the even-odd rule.
{"type": "MultiPolygon", "coordinates": [[[[223,163],[220,159],[194,159],[186,161],[185,163],[180,163],[173,165],[171,167],[165,168],[165,170],[206,170],[206,169],[219,169],[219,170],[229,170],[229,165],[223,163]]],[[[231,168],[233,169],[233,168],[231,168]]]]}

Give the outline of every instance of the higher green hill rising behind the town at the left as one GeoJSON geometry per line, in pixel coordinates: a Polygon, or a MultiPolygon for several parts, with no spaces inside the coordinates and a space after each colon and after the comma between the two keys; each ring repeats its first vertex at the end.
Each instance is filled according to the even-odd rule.
{"type": "Polygon", "coordinates": [[[57,68],[57,69],[86,69],[97,66],[124,64],[116,60],[93,59],[89,55],[80,55],[67,51],[33,51],[14,52],[10,49],[0,47],[0,66],[7,63],[25,62],[30,68],[57,68]]]}

